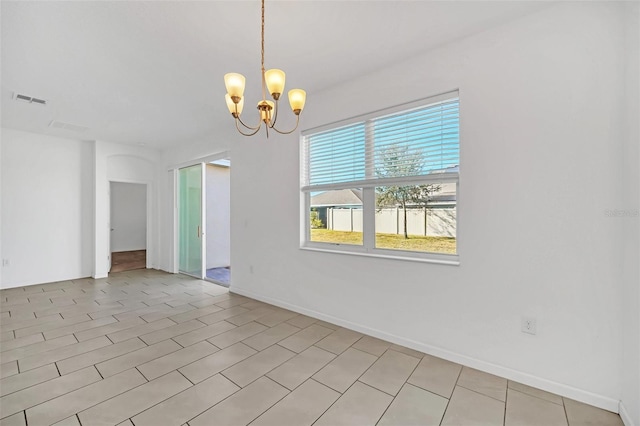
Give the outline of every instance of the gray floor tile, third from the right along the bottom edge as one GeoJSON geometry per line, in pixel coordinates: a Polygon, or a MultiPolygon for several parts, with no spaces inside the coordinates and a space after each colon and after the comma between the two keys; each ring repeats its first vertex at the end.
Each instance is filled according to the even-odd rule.
{"type": "Polygon", "coordinates": [[[504,402],[456,386],[444,413],[442,426],[502,425],[504,402]]]}

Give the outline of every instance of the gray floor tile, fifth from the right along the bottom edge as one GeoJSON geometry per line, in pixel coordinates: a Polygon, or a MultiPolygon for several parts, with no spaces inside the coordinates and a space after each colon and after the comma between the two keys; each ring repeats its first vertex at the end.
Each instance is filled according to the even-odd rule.
{"type": "Polygon", "coordinates": [[[384,392],[356,382],[314,426],[375,425],[392,399],[384,392]]]}

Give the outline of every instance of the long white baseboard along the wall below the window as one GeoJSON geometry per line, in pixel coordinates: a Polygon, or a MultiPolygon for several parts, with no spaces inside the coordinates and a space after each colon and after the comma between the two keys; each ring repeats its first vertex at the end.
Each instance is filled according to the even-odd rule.
{"type": "MultiPolygon", "coordinates": [[[[239,294],[241,296],[247,296],[252,299],[256,299],[262,302],[270,303],[275,306],[279,306],[284,309],[288,309],[290,311],[298,312],[303,315],[308,315],[310,317],[318,318],[323,321],[330,322],[332,324],[336,324],[345,328],[349,328],[351,330],[358,331],[363,334],[367,334],[369,336],[377,337],[382,340],[386,340],[388,342],[392,342],[398,345],[406,346],[411,349],[415,349],[420,352],[424,352],[429,355],[433,355],[439,358],[446,359],[451,362],[455,362],[458,364],[465,365],[467,367],[475,368],[476,370],[481,370],[490,374],[494,374],[496,376],[504,377],[509,380],[513,380],[516,382],[523,383],[528,386],[532,386],[534,388],[542,389],[547,392],[555,393],[557,395],[561,395],[567,398],[574,399],[576,401],[583,402],[585,404],[593,405],[598,408],[602,408],[604,410],[612,411],[617,413],[620,409],[620,401],[608,398],[606,396],[598,395],[589,391],[585,391],[582,389],[574,388],[572,386],[568,386],[562,383],[554,382],[551,380],[547,380],[541,377],[533,376],[528,373],[523,373],[521,371],[513,370],[508,367],[503,367],[500,365],[492,364],[487,361],[479,360],[476,358],[472,358],[466,355],[461,355],[455,352],[448,351],[446,349],[442,349],[436,346],[427,345],[421,342],[417,342],[414,340],[406,339],[400,336],[395,336],[392,334],[385,333],[380,330],[376,330],[370,327],[367,327],[362,324],[354,323],[351,321],[346,321],[342,318],[333,317],[331,315],[326,315],[321,312],[316,312],[311,309],[307,309],[304,307],[300,307],[297,305],[290,304],[288,302],[284,302],[279,299],[274,299],[269,296],[264,296],[262,294],[257,294],[249,290],[245,290],[242,288],[237,288],[232,286],[229,288],[229,291],[232,293],[239,294]]],[[[627,416],[628,418],[628,416],[627,416]]],[[[633,423],[626,423],[626,426],[633,425],[633,423]]],[[[635,426],[635,425],[633,425],[635,426]]]]}

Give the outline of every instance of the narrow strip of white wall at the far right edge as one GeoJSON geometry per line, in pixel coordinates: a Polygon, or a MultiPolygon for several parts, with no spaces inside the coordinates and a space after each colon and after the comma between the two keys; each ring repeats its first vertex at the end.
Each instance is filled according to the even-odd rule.
{"type": "Polygon", "coordinates": [[[621,225],[624,249],[622,292],[622,402],[621,416],[627,424],[640,425],[640,4],[626,4],[626,115],[627,135],[623,147],[623,194],[617,208],[630,213],[612,218],[621,225]],[[631,423],[632,422],[632,423],[631,423]]]}

